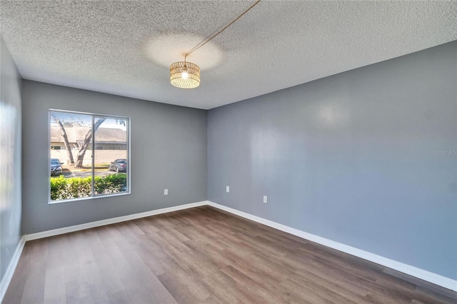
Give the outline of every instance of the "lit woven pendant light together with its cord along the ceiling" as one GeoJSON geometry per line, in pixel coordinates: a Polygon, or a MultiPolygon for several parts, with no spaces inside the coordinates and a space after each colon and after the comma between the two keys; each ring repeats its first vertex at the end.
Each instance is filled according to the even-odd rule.
{"type": "Polygon", "coordinates": [[[229,26],[231,26],[233,23],[235,23],[238,19],[240,19],[244,14],[246,14],[250,9],[252,9],[254,6],[258,4],[261,0],[256,1],[256,3],[252,4],[249,6],[246,11],[243,11],[243,14],[240,16],[236,17],[233,21],[231,21],[229,24],[224,26],[223,29],[220,31],[214,31],[211,35],[209,35],[207,38],[203,39],[200,41],[199,44],[194,46],[190,51],[184,55],[184,61],[177,61],[174,64],[171,64],[170,66],[170,82],[172,85],[177,86],[178,88],[196,88],[197,86],[200,85],[200,68],[196,64],[192,64],[191,62],[188,62],[187,56],[189,56],[191,53],[196,51],[197,49],[200,49],[202,46],[207,44],[209,41],[214,39],[214,37],[218,36],[221,34],[225,29],[227,29],[229,26]]]}

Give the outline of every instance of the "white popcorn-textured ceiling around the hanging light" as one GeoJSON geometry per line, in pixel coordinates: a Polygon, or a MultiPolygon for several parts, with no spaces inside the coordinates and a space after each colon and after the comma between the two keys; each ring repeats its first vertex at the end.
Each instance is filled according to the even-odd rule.
{"type": "Polygon", "coordinates": [[[214,108],[457,40],[457,1],[0,1],[1,36],[25,79],[214,108]]]}

